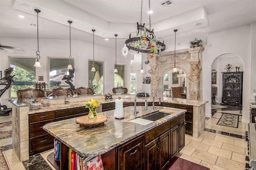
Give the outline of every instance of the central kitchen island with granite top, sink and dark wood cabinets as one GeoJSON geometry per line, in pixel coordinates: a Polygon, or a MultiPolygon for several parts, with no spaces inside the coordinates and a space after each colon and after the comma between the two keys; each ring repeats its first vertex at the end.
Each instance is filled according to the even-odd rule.
{"type": "MultiPolygon", "coordinates": [[[[134,120],[134,107],[130,106],[124,107],[124,119],[115,119],[114,110],[98,113],[99,115],[104,115],[108,117],[108,121],[106,121],[104,125],[92,129],[76,124],[75,120],[77,118],[48,123],[44,125],[43,129],[50,133],[55,138],[57,138],[58,140],[60,140],[62,143],[62,147],[71,148],[81,157],[94,157],[97,155],[103,155],[102,160],[103,163],[105,163],[104,166],[108,168],[113,168],[114,166],[116,167],[115,169],[138,169],[139,167],[141,167],[139,169],[142,169],[142,165],[144,166],[144,162],[142,161],[151,161],[146,160],[147,156],[145,157],[144,160],[144,147],[146,148],[146,146],[152,143],[152,141],[155,142],[155,139],[158,139],[159,136],[166,133],[168,134],[167,137],[165,136],[157,143],[161,148],[166,148],[162,151],[162,159],[165,158],[167,160],[159,161],[164,162],[164,164],[157,163],[157,165],[155,165],[156,162],[148,163],[152,164],[150,167],[160,166],[162,169],[166,167],[168,164],[170,164],[171,158],[175,157],[176,154],[178,154],[179,148],[182,149],[184,147],[184,113],[186,112],[186,110],[184,109],[175,109],[162,106],[157,106],[156,110],[161,110],[163,108],[170,109],[174,113],[169,114],[161,119],[158,119],[148,125],[141,125],[139,123],[130,122],[131,120],[134,120]],[[180,126],[177,126],[179,124],[180,126]],[[183,130],[180,130],[180,127],[183,127],[183,130]],[[174,131],[171,133],[172,129],[174,129],[174,131]],[[180,136],[182,141],[177,140],[178,136],[180,136]],[[132,158],[125,156],[123,158],[120,158],[122,154],[115,153],[120,152],[122,146],[126,146],[127,143],[134,143],[134,139],[139,139],[138,143],[141,145],[137,145],[137,143],[135,143],[134,146],[136,147],[134,148],[134,146],[132,145],[131,149],[126,149],[126,151],[129,152],[129,154],[125,154],[128,154],[128,156],[131,154],[131,157],[138,156],[138,162],[140,163],[132,163],[132,165],[128,165],[126,163],[122,164],[122,161],[130,162],[132,161],[132,158]],[[182,143],[183,145],[178,147],[180,143],[182,143]],[[174,146],[177,146],[177,149],[171,148],[174,146]],[[172,151],[173,154],[171,154],[172,151]],[[138,153],[132,155],[133,152],[138,153]],[[104,160],[104,155],[114,155],[116,159],[112,158],[112,161],[108,160],[106,162],[104,160]]],[[[152,113],[151,106],[148,107],[148,110],[144,110],[143,106],[138,106],[137,110],[139,111],[139,113],[137,113],[137,118],[152,113]]],[[[158,147],[158,149],[160,148],[158,147]]],[[[68,149],[64,150],[67,151],[68,149]]],[[[64,155],[62,155],[61,158],[65,160],[61,161],[61,169],[66,169],[68,162],[66,160],[67,154],[65,153],[65,151],[62,151],[62,154],[64,155]]],[[[145,150],[145,153],[146,152],[147,150],[145,150]]],[[[146,169],[150,168],[148,167],[146,169]]]]}

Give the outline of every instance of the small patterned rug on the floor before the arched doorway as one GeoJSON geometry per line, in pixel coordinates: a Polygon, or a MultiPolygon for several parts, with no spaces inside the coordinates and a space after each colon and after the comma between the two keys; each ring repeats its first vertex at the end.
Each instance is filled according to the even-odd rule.
{"type": "Polygon", "coordinates": [[[223,113],[217,125],[238,128],[238,118],[239,118],[239,115],[231,115],[231,114],[223,113]]]}

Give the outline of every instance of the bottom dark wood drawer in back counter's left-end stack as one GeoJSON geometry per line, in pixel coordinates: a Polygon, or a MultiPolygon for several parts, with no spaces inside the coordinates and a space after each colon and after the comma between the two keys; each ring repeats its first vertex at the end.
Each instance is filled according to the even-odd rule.
{"type": "Polygon", "coordinates": [[[30,155],[52,149],[53,143],[54,137],[50,134],[30,138],[30,155]]]}

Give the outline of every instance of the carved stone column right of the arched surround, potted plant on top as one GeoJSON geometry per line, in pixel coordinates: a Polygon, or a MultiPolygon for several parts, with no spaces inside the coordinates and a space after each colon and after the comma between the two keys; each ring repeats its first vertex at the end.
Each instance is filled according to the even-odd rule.
{"type": "Polygon", "coordinates": [[[204,47],[187,49],[190,53],[190,75],[188,76],[190,87],[190,99],[202,100],[202,52],[204,47]]]}

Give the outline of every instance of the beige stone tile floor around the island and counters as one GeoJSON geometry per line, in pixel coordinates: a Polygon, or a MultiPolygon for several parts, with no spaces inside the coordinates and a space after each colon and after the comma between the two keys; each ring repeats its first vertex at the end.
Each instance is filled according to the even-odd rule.
{"type": "MultiPolygon", "coordinates": [[[[248,124],[240,121],[238,128],[216,125],[222,115],[221,111],[222,109],[216,109],[213,116],[206,119],[206,131],[199,138],[186,135],[186,145],[178,156],[211,170],[244,170],[247,155],[247,142],[245,142],[244,136],[245,131],[248,131],[248,124]]],[[[235,112],[231,111],[231,113],[235,112]]],[[[236,113],[240,112],[236,111],[236,113]]],[[[12,121],[12,116],[1,117],[0,123],[6,121],[12,121]]],[[[3,148],[2,151],[10,170],[35,170],[34,166],[36,165],[37,167],[40,165],[40,170],[50,170],[51,168],[55,170],[47,161],[47,156],[53,152],[53,149],[34,155],[27,162],[20,162],[11,149],[11,144],[12,138],[0,140],[0,147],[3,148]],[[35,160],[37,162],[33,162],[35,160]]]]}

